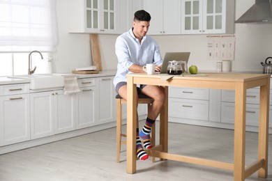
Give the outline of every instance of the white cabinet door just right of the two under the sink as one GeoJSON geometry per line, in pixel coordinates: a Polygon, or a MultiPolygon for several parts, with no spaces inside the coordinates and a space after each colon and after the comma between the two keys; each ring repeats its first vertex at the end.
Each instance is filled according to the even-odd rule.
{"type": "Polygon", "coordinates": [[[75,116],[77,129],[96,125],[96,86],[80,88],[75,95],[75,116]]]}

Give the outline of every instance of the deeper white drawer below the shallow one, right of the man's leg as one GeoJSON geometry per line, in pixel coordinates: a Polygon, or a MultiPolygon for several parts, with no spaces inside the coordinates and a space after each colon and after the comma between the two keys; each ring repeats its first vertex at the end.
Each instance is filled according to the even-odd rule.
{"type": "Polygon", "coordinates": [[[169,117],[209,120],[209,101],[169,98],[169,117]]]}

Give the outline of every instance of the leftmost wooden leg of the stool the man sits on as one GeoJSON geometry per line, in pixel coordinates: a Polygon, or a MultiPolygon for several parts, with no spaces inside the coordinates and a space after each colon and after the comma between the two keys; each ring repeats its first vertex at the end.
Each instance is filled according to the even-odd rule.
{"type": "Polygon", "coordinates": [[[116,162],[120,163],[122,134],[122,104],[121,99],[116,100],[116,162]]]}

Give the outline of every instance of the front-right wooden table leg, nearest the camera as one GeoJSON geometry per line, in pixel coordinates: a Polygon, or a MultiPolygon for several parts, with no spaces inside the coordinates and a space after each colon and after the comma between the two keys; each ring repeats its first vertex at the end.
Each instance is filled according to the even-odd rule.
{"type": "Polygon", "coordinates": [[[234,180],[245,180],[245,99],[246,89],[243,83],[235,88],[234,117],[234,180]]]}

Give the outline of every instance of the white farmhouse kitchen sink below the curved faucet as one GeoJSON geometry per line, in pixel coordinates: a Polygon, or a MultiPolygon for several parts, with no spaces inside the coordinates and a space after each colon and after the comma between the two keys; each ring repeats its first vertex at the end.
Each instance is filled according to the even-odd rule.
{"type": "Polygon", "coordinates": [[[64,77],[61,74],[23,74],[9,78],[30,79],[30,89],[56,88],[64,86],[64,77]]]}

